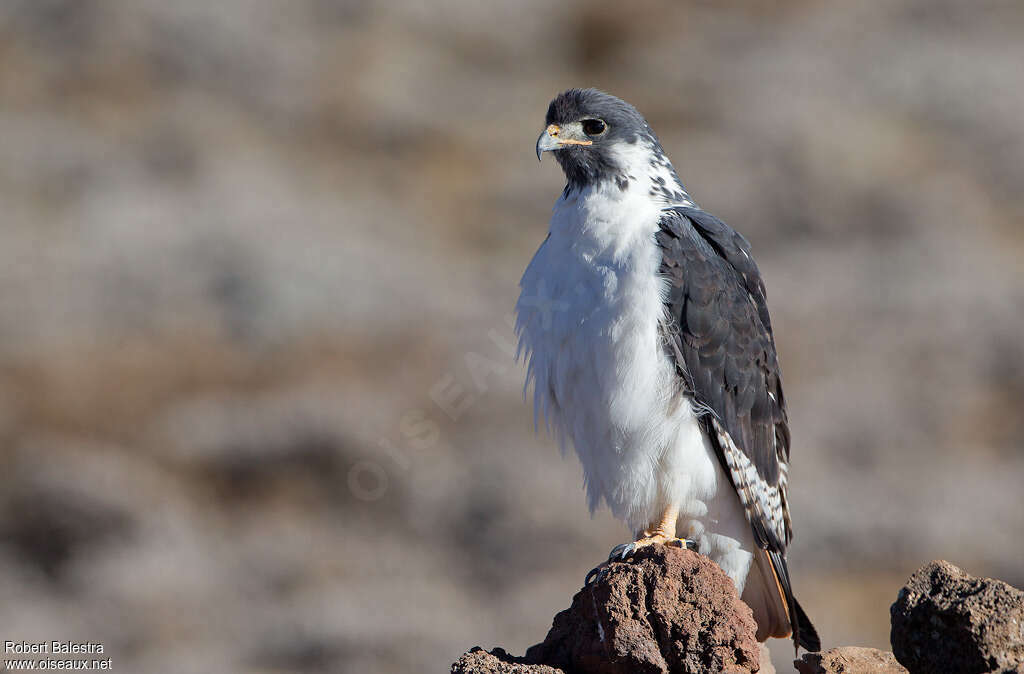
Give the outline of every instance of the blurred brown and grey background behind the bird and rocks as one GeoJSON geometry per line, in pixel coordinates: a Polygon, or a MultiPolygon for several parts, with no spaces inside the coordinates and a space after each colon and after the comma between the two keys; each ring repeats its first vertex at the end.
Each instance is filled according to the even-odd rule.
{"type": "Polygon", "coordinates": [[[152,673],[540,641],[628,536],[510,348],[569,86],[754,245],[824,644],[886,647],[932,558],[1024,586],[1022,64],[1012,1],[3,3],[0,639],[152,673]]]}

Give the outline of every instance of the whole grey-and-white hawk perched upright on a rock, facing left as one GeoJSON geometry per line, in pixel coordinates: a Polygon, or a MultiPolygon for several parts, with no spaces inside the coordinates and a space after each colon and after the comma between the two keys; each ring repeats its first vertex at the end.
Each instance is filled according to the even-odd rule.
{"type": "Polygon", "coordinates": [[[751,246],[683,188],[646,120],[596,89],[551,101],[538,159],[566,185],[520,282],[534,407],[635,533],[714,559],[758,639],[820,642],[785,563],[790,428],[751,246]],[[677,538],[682,536],[683,538],[677,538]]]}

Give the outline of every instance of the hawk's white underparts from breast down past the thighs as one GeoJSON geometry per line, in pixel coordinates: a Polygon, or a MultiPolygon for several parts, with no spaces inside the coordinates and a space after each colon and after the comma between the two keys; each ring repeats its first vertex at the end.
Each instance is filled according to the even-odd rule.
{"type": "Polygon", "coordinates": [[[595,212],[586,198],[560,201],[523,276],[517,329],[535,412],[574,448],[591,510],[604,501],[639,532],[678,504],[678,535],[741,591],[753,535],[660,342],[660,213],[622,202],[595,212]]]}

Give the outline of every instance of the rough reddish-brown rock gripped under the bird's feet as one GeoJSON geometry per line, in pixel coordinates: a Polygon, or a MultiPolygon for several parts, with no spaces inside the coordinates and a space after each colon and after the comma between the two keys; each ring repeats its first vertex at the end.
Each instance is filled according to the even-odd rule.
{"type": "Polygon", "coordinates": [[[759,670],[750,607],[713,561],[660,545],[615,562],[526,651],[573,674],[759,670]]]}

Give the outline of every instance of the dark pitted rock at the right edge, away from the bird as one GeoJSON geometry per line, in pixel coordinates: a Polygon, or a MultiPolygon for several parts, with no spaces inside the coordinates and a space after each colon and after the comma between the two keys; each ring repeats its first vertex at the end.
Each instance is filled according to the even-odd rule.
{"type": "Polygon", "coordinates": [[[1024,592],[948,561],[918,570],[890,608],[892,646],[918,672],[1024,672],[1024,592]]]}

